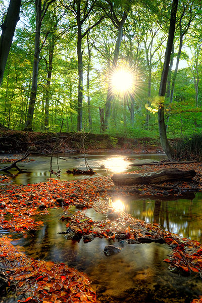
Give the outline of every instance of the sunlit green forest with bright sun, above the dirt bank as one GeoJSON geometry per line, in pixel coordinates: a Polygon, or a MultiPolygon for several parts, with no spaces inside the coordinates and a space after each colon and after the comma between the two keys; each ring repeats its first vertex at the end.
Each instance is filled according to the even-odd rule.
{"type": "MultiPolygon", "coordinates": [[[[158,136],[170,1],[11,4],[1,1],[0,10],[4,127],[57,132],[63,124],[65,132],[158,136]]],[[[180,0],[176,8],[164,93],[169,138],[201,131],[201,7],[200,0],[180,0]]]]}

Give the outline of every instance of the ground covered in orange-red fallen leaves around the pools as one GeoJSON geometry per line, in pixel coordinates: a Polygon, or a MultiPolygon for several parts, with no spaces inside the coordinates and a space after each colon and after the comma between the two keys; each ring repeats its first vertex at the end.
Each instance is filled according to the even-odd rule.
{"type": "MultiPolygon", "coordinates": [[[[162,168],[163,166],[161,166],[162,168]]],[[[166,166],[168,168],[168,165],[166,166]]],[[[202,190],[200,164],[172,165],[179,169],[196,170],[197,175],[191,182],[168,182],[153,185],[137,185],[132,188],[140,195],[181,195],[186,190],[202,190]],[[161,188],[162,186],[162,188],[161,188]],[[166,188],[165,187],[171,187],[166,188]]],[[[160,167],[143,167],[141,171],[155,171],[160,167]]],[[[5,177],[2,177],[5,184],[5,177]]],[[[131,243],[160,242],[173,248],[172,254],[165,262],[171,269],[187,274],[202,275],[202,244],[190,239],[181,238],[160,229],[155,224],[132,218],[124,212],[115,212],[109,207],[109,196],[116,192],[110,177],[95,177],[79,181],[59,181],[49,179],[47,182],[28,185],[4,185],[0,188],[0,228],[17,233],[37,229],[43,223],[35,221],[37,214],[48,214],[48,208],[62,207],[66,213],[61,220],[73,232],[75,239],[83,237],[84,242],[95,237],[106,237],[116,240],[126,239],[131,243]],[[93,221],[82,211],[69,214],[70,205],[77,209],[93,208],[106,215],[102,221],[93,221]]],[[[122,194],[129,194],[131,187],[119,188],[122,194]]],[[[130,193],[131,194],[131,193],[130,193]]],[[[96,296],[90,288],[88,278],[65,264],[36,261],[24,256],[6,237],[0,238],[0,262],[8,270],[10,284],[15,284],[17,293],[23,294],[21,301],[31,302],[95,302],[96,296]],[[56,299],[56,297],[58,299],[56,299]]],[[[193,300],[201,303],[202,299],[193,300]]]]}

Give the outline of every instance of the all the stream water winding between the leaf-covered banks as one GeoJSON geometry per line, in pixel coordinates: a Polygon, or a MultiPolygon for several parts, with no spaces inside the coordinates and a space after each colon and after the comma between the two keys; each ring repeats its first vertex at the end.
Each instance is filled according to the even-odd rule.
{"type": "MultiPolygon", "coordinates": [[[[12,156],[13,157],[13,156],[12,156]]],[[[96,171],[94,176],[73,176],[65,170],[73,168],[85,169],[84,155],[61,155],[68,161],[58,160],[61,176],[52,177],[61,180],[92,178],[94,176],[111,175],[117,172],[134,170],[132,163],[158,161],[165,159],[164,155],[88,155],[88,165],[96,171]],[[78,157],[72,159],[68,157],[78,157]],[[130,160],[125,160],[129,158],[130,160]],[[100,168],[104,165],[105,168],[100,168]]],[[[13,157],[14,158],[14,157],[13,157]]],[[[15,157],[16,158],[16,157],[15,157]]],[[[24,168],[29,173],[13,177],[16,184],[44,182],[50,177],[49,159],[43,156],[34,157],[34,162],[25,162],[24,168]]],[[[1,167],[5,164],[1,164],[1,167]]],[[[57,170],[57,160],[54,160],[54,170],[57,170]]],[[[146,222],[158,223],[161,228],[202,241],[202,193],[196,193],[185,198],[146,199],[134,196],[123,198],[111,197],[109,203],[115,209],[125,211],[135,218],[146,222]]],[[[85,215],[93,220],[103,220],[105,216],[93,209],[84,210],[85,215]]],[[[49,215],[37,216],[44,225],[36,231],[29,231],[26,237],[16,235],[14,245],[24,247],[27,256],[54,262],[64,262],[70,267],[87,273],[92,281],[92,287],[97,298],[102,303],[190,303],[193,298],[202,295],[202,280],[198,275],[183,276],[169,271],[169,265],[163,262],[171,253],[166,244],[145,243],[127,244],[126,241],[113,242],[109,239],[95,238],[84,243],[67,240],[59,232],[65,231],[65,223],[60,220],[64,215],[62,209],[50,209],[49,215]],[[103,249],[114,244],[122,248],[118,255],[107,257],[103,249]]]]}

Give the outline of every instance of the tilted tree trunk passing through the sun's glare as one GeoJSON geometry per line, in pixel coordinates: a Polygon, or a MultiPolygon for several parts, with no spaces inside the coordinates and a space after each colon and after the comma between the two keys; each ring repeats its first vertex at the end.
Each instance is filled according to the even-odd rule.
{"type": "Polygon", "coordinates": [[[112,91],[112,74],[115,71],[117,67],[117,62],[118,62],[118,57],[119,57],[119,49],[121,46],[121,40],[123,37],[123,26],[127,18],[127,13],[123,14],[123,17],[121,19],[121,22],[119,23],[119,28],[118,28],[118,36],[117,36],[117,41],[116,41],[116,46],[115,46],[115,51],[114,51],[114,58],[113,58],[113,63],[112,67],[110,70],[110,81],[109,81],[109,86],[108,86],[108,93],[107,93],[107,102],[106,102],[106,109],[105,109],[105,127],[104,130],[108,129],[109,125],[109,120],[110,120],[110,111],[111,111],[111,103],[113,100],[113,91],[112,91]]]}

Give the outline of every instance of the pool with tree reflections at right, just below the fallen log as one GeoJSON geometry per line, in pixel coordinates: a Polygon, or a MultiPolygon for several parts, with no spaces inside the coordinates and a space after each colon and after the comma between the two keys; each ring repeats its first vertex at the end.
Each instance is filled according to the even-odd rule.
{"type": "Polygon", "coordinates": [[[196,197],[192,194],[192,199],[188,197],[189,193],[186,199],[175,200],[132,200],[130,197],[126,200],[126,209],[137,219],[158,223],[170,232],[202,241],[202,194],[197,193],[196,197]]]}

